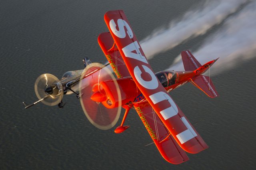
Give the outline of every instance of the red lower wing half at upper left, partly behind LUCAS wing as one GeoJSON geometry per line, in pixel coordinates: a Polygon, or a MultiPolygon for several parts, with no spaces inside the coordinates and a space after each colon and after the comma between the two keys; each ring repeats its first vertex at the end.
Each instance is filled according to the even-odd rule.
{"type": "Polygon", "coordinates": [[[118,51],[118,48],[114,44],[114,40],[110,32],[104,32],[98,36],[98,43],[105,54],[112,69],[116,73],[117,78],[130,76],[129,71],[118,51]]]}

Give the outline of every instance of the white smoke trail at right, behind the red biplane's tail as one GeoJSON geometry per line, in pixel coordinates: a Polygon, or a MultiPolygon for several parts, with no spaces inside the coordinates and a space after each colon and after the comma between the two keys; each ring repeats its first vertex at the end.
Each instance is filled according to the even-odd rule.
{"type": "MultiPolygon", "coordinates": [[[[217,74],[237,62],[256,57],[256,1],[229,17],[220,29],[193,55],[201,64],[220,57],[211,73],[217,74]],[[213,72],[214,71],[214,72],[213,72]]],[[[180,58],[179,56],[177,58],[180,58]]],[[[176,59],[178,60],[178,59],[176,59]]],[[[169,69],[184,70],[182,61],[169,69]]]]}

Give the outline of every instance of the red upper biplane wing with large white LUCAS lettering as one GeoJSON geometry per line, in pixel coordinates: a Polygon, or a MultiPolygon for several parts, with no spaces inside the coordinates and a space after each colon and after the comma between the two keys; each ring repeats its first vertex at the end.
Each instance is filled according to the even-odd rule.
{"type": "Polygon", "coordinates": [[[124,12],[109,11],[104,20],[134,82],[180,147],[190,153],[208,148],[156,78],[124,12]]]}

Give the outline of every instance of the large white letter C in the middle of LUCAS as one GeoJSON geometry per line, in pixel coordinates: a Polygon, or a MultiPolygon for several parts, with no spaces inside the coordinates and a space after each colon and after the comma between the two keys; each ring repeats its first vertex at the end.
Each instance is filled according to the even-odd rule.
{"type": "Polygon", "coordinates": [[[133,70],[136,80],[140,83],[140,85],[142,85],[143,87],[145,87],[147,89],[151,89],[151,90],[156,89],[158,87],[158,80],[157,80],[155,74],[146,65],[142,65],[142,67],[145,70],[145,72],[150,74],[150,76],[152,77],[152,80],[151,81],[144,81],[141,78],[142,72],[141,72],[141,70],[138,66],[136,66],[133,70]]]}

